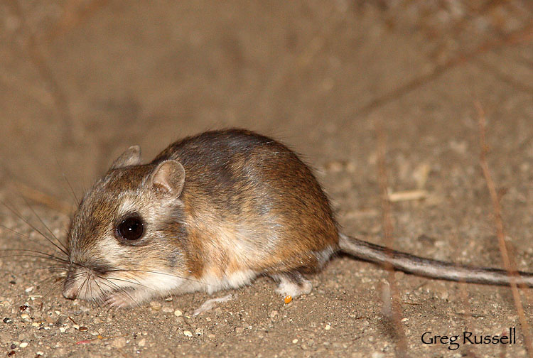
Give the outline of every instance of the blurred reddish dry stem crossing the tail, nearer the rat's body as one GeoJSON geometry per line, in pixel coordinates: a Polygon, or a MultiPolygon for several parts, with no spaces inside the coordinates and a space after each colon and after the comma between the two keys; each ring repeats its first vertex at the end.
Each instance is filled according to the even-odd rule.
{"type": "MultiPolygon", "coordinates": [[[[388,180],[387,180],[387,165],[385,163],[386,153],[386,139],[383,131],[382,123],[379,120],[375,120],[375,131],[377,136],[377,177],[379,181],[379,190],[382,198],[382,218],[383,218],[383,237],[384,244],[390,250],[392,250],[394,244],[394,238],[392,237],[392,220],[390,217],[391,202],[389,200],[389,193],[387,192],[388,180]]],[[[392,253],[390,253],[392,256],[392,253]]],[[[394,268],[390,262],[383,264],[383,267],[389,272],[387,281],[389,282],[390,289],[390,303],[391,303],[391,316],[394,330],[397,335],[397,357],[409,357],[407,354],[407,339],[405,337],[404,326],[402,325],[402,306],[400,305],[400,299],[396,281],[394,280],[394,268]]],[[[387,306],[387,302],[384,305],[387,306]]]]}

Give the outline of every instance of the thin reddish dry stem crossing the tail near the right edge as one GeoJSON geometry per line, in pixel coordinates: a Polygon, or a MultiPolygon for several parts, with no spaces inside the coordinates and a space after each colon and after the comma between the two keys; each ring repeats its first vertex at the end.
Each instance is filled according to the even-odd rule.
{"type": "Polygon", "coordinates": [[[483,170],[485,181],[487,182],[487,188],[490,193],[490,200],[492,201],[492,207],[494,210],[494,224],[496,229],[496,235],[498,238],[498,246],[500,247],[500,254],[502,254],[503,266],[510,277],[512,298],[513,300],[515,300],[515,308],[517,309],[518,319],[520,321],[520,325],[522,326],[522,332],[524,332],[524,343],[526,345],[527,354],[530,358],[533,358],[531,334],[529,333],[529,325],[527,324],[526,315],[524,313],[524,306],[522,305],[522,299],[520,298],[516,281],[517,268],[510,259],[509,251],[507,250],[507,245],[505,244],[505,229],[503,227],[500,197],[496,191],[495,184],[492,181],[492,176],[490,175],[490,170],[487,163],[488,146],[485,141],[485,112],[483,112],[483,107],[481,107],[480,102],[475,102],[474,104],[479,116],[479,134],[481,147],[480,166],[483,170]]]}

